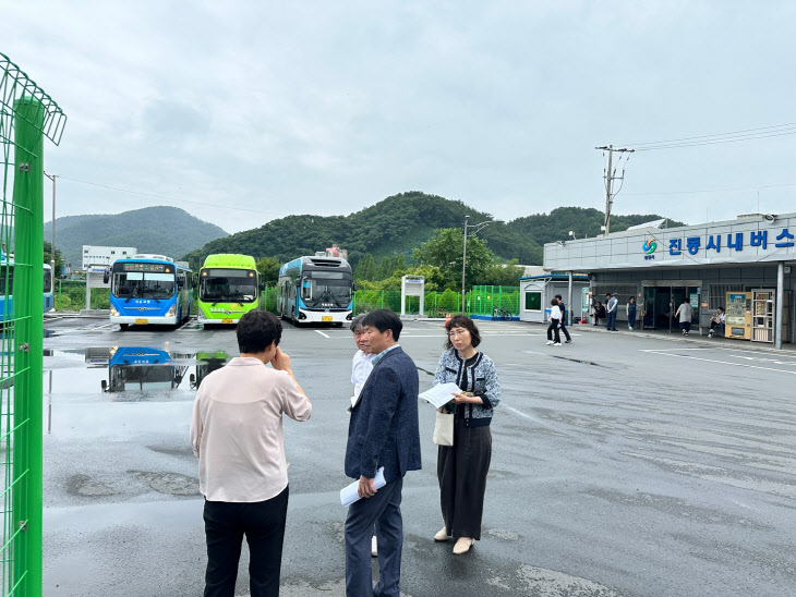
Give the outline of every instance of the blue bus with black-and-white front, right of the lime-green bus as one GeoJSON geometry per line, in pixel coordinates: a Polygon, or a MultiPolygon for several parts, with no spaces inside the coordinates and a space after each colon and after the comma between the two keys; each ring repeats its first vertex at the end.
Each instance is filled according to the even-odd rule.
{"type": "Polygon", "coordinates": [[[339,257],[299,257],[279,268],[276,308],[299,324],[350,321],[353,312],[351,266],[339,257]]]}

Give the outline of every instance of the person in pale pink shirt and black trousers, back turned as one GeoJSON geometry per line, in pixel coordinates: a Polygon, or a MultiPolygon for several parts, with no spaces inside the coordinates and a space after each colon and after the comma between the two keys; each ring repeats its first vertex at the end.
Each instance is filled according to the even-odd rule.
{"type": "Polygon", "coordinates": [[[281,332],[270,313],[243,315],[236,332],[240,357],[210,373],[196,392],[191,443],[205,497],[205,597],[234,594],[244,535],[251,596],[279,595],[288,513],[282,414],[296,421],[312,414],[290,357],[278,348],[281,332]]]}

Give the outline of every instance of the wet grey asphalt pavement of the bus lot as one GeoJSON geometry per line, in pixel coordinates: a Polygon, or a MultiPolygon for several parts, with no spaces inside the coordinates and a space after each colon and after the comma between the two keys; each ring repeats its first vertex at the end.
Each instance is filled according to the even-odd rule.
{"type": "MultiPolygon", "coordinates": [[[[421,404],[423,470],[403,489],[403,595],[796,594],[795,353],[577,326],[571,344],[553,348],[539,325],[480,326],[503,390],[482,540],[460,557],[432,540],[442,526],[434,411],[421,404]]],[[[45,327],[44,594],[201,595],[192,386],[237,355],[234,330],[45,327]]],[[[443,341],[439,321],[405,325],[421,390],[443,341]]],[[[347,330],[288,324],[281,346],[314,407],[309,422],[285,424],[281,594],[343,595],[338,492],[349,483],[355,346],[347,330]]],[[[249,594],[246,565],[244,548],[237,595],[249,594]]]]}

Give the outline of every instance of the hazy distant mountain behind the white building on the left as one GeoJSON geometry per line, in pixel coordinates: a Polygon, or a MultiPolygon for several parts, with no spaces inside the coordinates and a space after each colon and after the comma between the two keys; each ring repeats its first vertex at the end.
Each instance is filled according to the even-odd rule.
{"type": "MultiPolygon", "coordinates": [[[[51,222],[45,223],[47,241],[51,226],[51,222]]],[[[179,259],[185,253],[227,235],[219,227],[178,207],[145,207],[123,214],[56,219],[56,248],[74,268],[83,264],[83,245],[134,246],[141,253],[158,253],[179,259]]]]}

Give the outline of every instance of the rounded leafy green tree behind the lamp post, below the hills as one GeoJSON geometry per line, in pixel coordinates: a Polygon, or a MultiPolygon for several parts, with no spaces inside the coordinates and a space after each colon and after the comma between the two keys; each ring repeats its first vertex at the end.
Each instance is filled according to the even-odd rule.
{"type": "MultiPolygon", "coordinates": [[[[465,234],[456,228],[436,230],[434,235],[412,253],[412,260],[419,265],[439,268],[444,288],[455,289],[461,284],[461,259],[463,257],[465,234]]],[[[486,270],[495,257],[486,243],[478,236],[467,241],[467,288],[483,283],[486,270]]]]}

